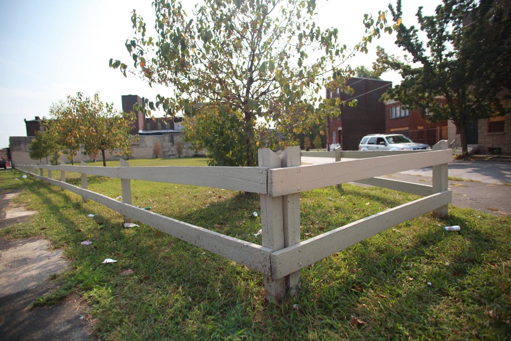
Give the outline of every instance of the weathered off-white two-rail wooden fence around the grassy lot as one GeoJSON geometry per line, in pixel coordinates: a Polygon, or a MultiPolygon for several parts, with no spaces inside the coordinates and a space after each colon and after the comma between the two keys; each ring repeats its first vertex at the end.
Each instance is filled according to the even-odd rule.
{"type": "MultiPolygon", "coordinates": [[[[17,168],[50,184],[94,200],[125,216],[151,225],[169,235],[203,247],[220,256],[264,274],[266,298],[278,300],[300,284],[301,269],[394,225],[433,211],[447,214],[451,191],[447,188],[447,165],[452,150],[441,141],[422,152],[322,152],[315,156],[356,158],[320,165],[300,165],[298,147],[277,155],[259,150],[259,167],[120,167],[18,165],[17,168]],[[432,186],[406,183],[380,175],[433,166],[432,186]],[[40,175],[37,174],[40,170],[40,175]],[[43,176],[48,169],[48,176],[43,176]],[[60,181],[52,178],[60,171],[60,181]],[[65,172],[81,173],[81,188],[65,182],[65,172]],[[87,175],[121,179],[123,202],[87,190],[87,175]],[[376,177],[376,178],[375,178],[376,177]],[[216,187],[259,193],[261,197],[262,245],[225,236],[200,226],[166,217],[131,204],[130,180],[216,187]],[[423,196],[401,206],[340,226],[314,238],[300,241],[299,193],[359,181],[423,196]]],[[[309,155],[311,153],[309,152],[309,155]]]]}

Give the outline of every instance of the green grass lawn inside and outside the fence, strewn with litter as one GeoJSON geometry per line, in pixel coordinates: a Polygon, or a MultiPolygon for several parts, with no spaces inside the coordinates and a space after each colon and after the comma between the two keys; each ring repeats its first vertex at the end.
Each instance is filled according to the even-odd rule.
{"type": "MultiPolygon", "coordinates": [[[[205,165],[204,158],[130,160],[130,166],[205,165]]],[[[96,163],[101,166],[101,163],[96,163]]],[[[118,166],[118,162],[109,166],[118,166]]],[[[60,174],[54,174],[59,178],[60,174]]],[[[150,226],[124,228],[122,215],[17,171],[0,172],[2,191],[37,210],[2,238],[39,236],[64,249],[72,268],[60,289],[89,304],[99,339],[509,339],[511,224],[470,209],[445,219],[425,214],[302,270],[302,285],[280,303],[265,302],[257,271],[150,226]],[[97,214],[94,218],[88,214],[97,214]],[[443,226],[460,225],[445,232],[443,226]],[[91,245],[81,245],[84,240],[91,245]],[[101,264],[105,258],[117,263],[101,264]],[[131,270],[131,271],[126,271],[131,270]]],[[[79,174],[66,173],[79,186],[79,174]]],[[[131,181],[133,204],[254,243],[259,196],[197,186],[131,181]]],[[[121,195],[118,179],[89,177],[89,190],[121,195]]],[[[417,198],[344,184],[300,194],[301,238],[417,198]]]]}

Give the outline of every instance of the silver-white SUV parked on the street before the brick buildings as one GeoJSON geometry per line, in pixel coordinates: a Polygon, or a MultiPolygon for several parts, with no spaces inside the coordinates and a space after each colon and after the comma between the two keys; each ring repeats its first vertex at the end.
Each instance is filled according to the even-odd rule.
{"type": "Polygon", "coordinates": [[[424,143],[416,143],[402,134],[369,134],[365,135],[358,150],[421,150],[431,149],[424,143]]]}

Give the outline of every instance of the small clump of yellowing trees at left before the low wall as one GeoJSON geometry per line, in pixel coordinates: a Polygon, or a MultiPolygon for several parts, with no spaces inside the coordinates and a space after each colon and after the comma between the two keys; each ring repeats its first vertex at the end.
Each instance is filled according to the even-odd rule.
{"type": "Polygon", "coordinates": [[[106,166],[105,152],[130,154],[130,143],[137,137],[130,135],[135,117],[113,108],[113,103],[104,103],[99,94],[90,98],[78,93],[67,96],[65,101],[50,107],[50,118],[44,119],[42,132],[29,147],[29,155],[34,160],[46,159],[57,164],[64,154],[74,163],[74,157],[83,146],[85,154],[96,159],[100,154],[106,166]]]}

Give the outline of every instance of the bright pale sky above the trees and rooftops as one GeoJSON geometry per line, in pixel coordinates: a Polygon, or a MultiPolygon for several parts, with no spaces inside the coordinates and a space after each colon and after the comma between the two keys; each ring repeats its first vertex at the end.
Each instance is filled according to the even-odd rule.
{"type": "MultiPolygon", "coordinates": [[[[197,0],[183,0],[191,14],[197,0]]],[[[110,58],[129,64],[125,48],[134,36],[131,12],[144,17],[153,27],[152,0],[0,0],[0,148],[9,146],[9,137],[26,136],[24,120],[48,118],[53,103],[82,92],[100,94],[103,102],[122,109],[122,95],[138,95],[154,100],[165,94],[164,87],[151,88],[135,76],[125,78],[110,69],[110,58]]],[[[391,1],[395,7],[395,0],[391,1]]],[[[317,0],[318,24],[339,30],[338,41],[353,47],[364,34],[365,13],[378,14],[389,0],[317,0]]],[[[440,0],[403,0],[403,24],[416,25],[415,13],[433,14],[440,0]]],[[[390,16],[389,16],[390,18],[390,16]]],[[[371,44],[369,53],[347,61],[352,67],[371,66],[377,46],[403,55],[393,36],[385,35],[371,44]]],[[[397,73],[382,79],[398,84],[397,73]]],[[[158,116],[158,113],[155,113],[158,116]]]]}

